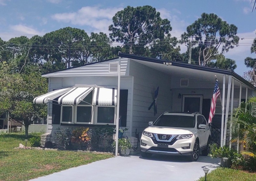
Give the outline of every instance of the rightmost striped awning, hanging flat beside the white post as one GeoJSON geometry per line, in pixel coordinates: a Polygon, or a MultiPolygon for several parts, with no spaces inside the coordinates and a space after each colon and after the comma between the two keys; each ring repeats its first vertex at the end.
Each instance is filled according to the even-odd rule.
{"type": "Polygon", "coordinates": [[[95,87],[93,105],[116,105],[116,88],[95,87]]]}

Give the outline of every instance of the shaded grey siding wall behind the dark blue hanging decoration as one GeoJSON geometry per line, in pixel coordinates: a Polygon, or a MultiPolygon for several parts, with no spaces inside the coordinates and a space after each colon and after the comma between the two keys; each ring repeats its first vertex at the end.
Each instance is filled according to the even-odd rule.
{"type": "Polygon", "coordinates": [[[148,127],[148,121],[155,121],[158,116],[171,110],[172,99],[170,91],[170,75],[130,60],[130,76],[133,76],[133,116],[132,136],[148,127]],[[159,86],[157,98],[157,114],[154,115],[154,106],[148,110],[154,100],[155,90],[159,86]]]}

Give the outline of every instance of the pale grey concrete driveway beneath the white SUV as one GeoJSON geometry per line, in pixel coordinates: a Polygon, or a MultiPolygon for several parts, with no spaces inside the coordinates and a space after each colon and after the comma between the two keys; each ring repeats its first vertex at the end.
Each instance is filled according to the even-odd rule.
{"type": "Polygon", "coordinates": [[[188,162],[185,157],[180,156],[153,155],[150,159],[140,155],[118,156],[33,180],[194,181],[204,176],[203,168],[209,168],[211,171],[218,166],[219,159],[211,159],[208,156],[200,156],[197,162],[188,162]]]}

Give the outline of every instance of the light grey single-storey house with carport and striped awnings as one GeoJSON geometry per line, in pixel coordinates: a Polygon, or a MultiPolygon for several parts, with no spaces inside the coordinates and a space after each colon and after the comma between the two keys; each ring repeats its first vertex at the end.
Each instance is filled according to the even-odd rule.
{"type": "MultiPolygon", "coordinates": [[[[128,136],[135,136],[135,133],[141,135],[148,121],[155,121],[167,110],[198,111],[208,120],[215,75],[225,100],[225,113],[220,101],[217,102],[213,118],[216,128],[223,130],[221,123],[230,114],[231,98],[233,108],[236,108],[255,92],[252,84],[230,70],[125,53],[119,53],[119,56],[120,119],[121,126],[129,128],[126,132],[128,136]],[[155,99],[157,87],[155,115],[154,108],[148,108],[155,99]],[[229,109],[226,114],[227,101],[229,109]]],[[[116,124],[118,61],[114,58],[42,74],[49,78],[49,93],[36,97],[34,103],[48,104],[47,133],[53,135],[59,127],[116,124]]]]}

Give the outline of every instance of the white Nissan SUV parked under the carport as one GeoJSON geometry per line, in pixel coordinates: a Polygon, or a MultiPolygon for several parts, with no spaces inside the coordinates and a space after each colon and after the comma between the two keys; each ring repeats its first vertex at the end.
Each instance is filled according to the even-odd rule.
{"type": "Polygon", "coordinates": [[[146,128],[140,138],[142,157],[154,154],[186,155],[197,161],[200,151],[209,154],[211,131],[199,112],[170,112],[162,114],[146,128]]]}

